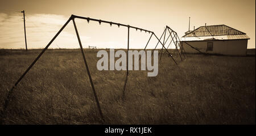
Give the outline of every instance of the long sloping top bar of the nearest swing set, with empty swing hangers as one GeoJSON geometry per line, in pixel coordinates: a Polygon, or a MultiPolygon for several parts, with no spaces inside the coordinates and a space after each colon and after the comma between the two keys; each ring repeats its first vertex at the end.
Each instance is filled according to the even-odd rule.
{"type": "Polygon", "coordinates": [[[90,20],[92,20],[92,21],[96,21],[96,22],[98,22],[98,23],[108,23],[108,24],[110,24],[110,26],[112,26],[112,24],[115,24],[115,25],[117,25],[118,27],[119,26],[123,26],[123,27],[129,27],[129,28],[134,28],[134,29],[136,29],[136,31],[139,29],[139,30],[141,30],[141,31],[145,31],[145,32],[148,32],[148,33],[154,33],[154,32],[152,32],[152,31],[148,31],[148,30],[146,30],[146,29],[142,29],[142,28],[138,28],[138,27],[133,27],[133,26],[130,26],[130,25],[126,25],[126,24],[120,24],[120,23],[115,23],[115,22],[108,22],[108,21],[105,21],[105,20],[100,20],[100,19],[93,19],[93,18],[86,18],[86,17],[84,17],[84,16],[77,16],[77,15],[71,15],[71,18],[79,18],[79,19],[85,19],[85,20],[87,20],[87,22],[89,23],[89,21],[90,20]]]}

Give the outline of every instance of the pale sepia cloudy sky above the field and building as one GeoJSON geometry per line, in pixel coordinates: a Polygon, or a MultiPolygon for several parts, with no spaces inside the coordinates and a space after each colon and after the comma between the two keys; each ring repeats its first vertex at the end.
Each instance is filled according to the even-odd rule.
{"type": "MultiPolygon", "coordinates": [[[[162,35],[168,25],[179,37],[188,31],[188,18],[193,26],[226,24],[245,32],[251,39],[248,48],[255,48],[255,0],[227,1],[87,1],[87,0],[1,0],[0,48],[25,48],[23,14],[26,13],[28,49],[44,48],[71,14],[122,24],[129,24],[162,35]]],[[[127,28],[76,19],[84,48],[126,48],[127,28]]],[[[149,33],[130,30],[130,48],[143,48],[149,33]]],[[[152,39],[148,48],[153,48],[152,39]]],[[[159,46],[160,47],[160,46],[159,46]]],[[[73,23],[70,22],[50,48],[79,48],[73,23]]]]}

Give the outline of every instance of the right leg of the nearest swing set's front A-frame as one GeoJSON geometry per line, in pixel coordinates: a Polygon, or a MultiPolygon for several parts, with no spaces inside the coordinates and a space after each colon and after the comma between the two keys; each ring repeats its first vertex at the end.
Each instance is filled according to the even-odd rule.
{"type": "Polygon", "coordinates": [[[98,97],[97,97],[97,94],[96,94],[96,91],[95,91],[95,88],[94,88],[94,85],[93,85],[92,76],[90,76],[90,70],[89,70],[89,67],[87,65],[86,58],[85,58],[85,55],[84,55],[84,50],[82,49],[82,43],[81,43],[79,33],[77,31],[77,28],[76,28],[75,19],[72,18],[72,20],[73,20],[73,24],[74,24],[74,27],[75,27],[75,30],[76,30],[77,40],[79,41],[80,49],[81,49],[81,52],[82,52],[82,58],[84,59],[84,64],[85,64],[85,67],[86,67],[86,70],[87,70],[87,73],[88,73],[88,76],[89,76],[89,79],[90,79],[90,85],[92,86],[93,94],[94,94],[94,97],[95,97],[95,100],[96,100],[96,103],[97,103],[98,111],[100,112],[101,119],[104,121],[103,114],[101,112],[100,103],[98,102],[98,97]]]}

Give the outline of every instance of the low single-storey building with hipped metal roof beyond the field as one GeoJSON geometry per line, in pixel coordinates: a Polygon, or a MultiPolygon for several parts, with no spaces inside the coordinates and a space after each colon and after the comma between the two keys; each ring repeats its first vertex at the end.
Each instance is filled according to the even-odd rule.
{"type": "Polygon", "coordinates": [[[246,33],[221,24],[205,25],[185,32],[180,43],[186,53],[199,53],[199,50],[208,54],[245,56],[249,39],[246,33]]]}

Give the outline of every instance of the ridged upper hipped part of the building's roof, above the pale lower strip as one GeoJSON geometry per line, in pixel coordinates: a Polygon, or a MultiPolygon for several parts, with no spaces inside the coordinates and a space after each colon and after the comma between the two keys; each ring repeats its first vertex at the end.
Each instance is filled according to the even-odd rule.
{"type": "Polygon", "coordinates": [[[246,35],[237,29],[229,27],[225,24],[201,26],[194,31],[185,34],[183,37],[199,37],[199,36],[222,36],[222,35],[246,35]]]}

